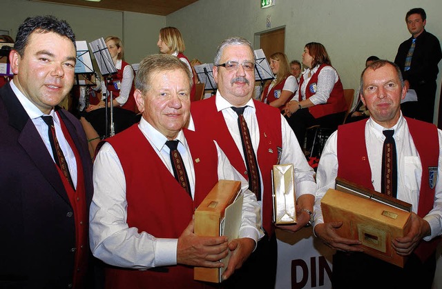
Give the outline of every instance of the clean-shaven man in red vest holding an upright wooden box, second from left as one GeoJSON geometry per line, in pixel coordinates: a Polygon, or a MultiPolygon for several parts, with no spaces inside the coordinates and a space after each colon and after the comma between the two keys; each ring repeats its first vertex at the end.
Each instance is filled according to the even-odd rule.
{"type": "Polygon", "coordinates": [[[180,59],[146,57],[135,83],[140,123],[106,139],[94,162],[90,247],[111,265],[106,288],[204,288],[193,280],[193,267],[220,268],[230,250],[227,279],[263,235],[256,197],[212,139],[182,129],[192,79],[180,59]],[[179,166],[173,165],[171,142],[182,158],[179,166]],[[239,239],[193,232],[193,213],[218,179],[242,180],[239,239]]]}

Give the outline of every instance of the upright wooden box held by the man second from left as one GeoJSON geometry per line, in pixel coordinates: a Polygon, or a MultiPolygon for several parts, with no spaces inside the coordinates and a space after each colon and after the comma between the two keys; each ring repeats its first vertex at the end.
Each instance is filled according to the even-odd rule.
{"type": "MultiPolygon", "coordinates": [[[[235,201],[240,190],[240,181],[219,180],[195,210],[195,235],[202,237],[220,236],[223,229],[224,210],[235,201]]],[[[240,220],[237,221],[239,223],[240,220]]],[[[224,268],[195,267],[193,279],[220,283],[222,272],[224,272],[224,268]]]]}

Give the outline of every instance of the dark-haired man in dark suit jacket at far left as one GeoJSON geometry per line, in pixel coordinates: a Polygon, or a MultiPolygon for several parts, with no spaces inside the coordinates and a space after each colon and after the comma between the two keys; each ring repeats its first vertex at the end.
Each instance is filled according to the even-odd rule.
{"type": "Polygon", "coordinates": [[[81,124],[57,107],[73,86],[75,35],[66,21],[30,17],[9,57],[15,77],[0,89],[0,288],[86,288],[92,161],[81,124]]]}

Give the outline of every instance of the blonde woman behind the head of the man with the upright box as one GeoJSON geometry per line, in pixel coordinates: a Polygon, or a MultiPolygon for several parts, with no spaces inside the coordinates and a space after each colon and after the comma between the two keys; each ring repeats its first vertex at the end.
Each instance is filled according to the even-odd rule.
{"type": "Polygon", "coordinates": [[[195,83],[197,79],[193,77],[193,71],[189,59],[183,54],[186,46],[182,39],[181,32],[175,27],[164,27],[160,29],[160,35],[157,42],[161,54],[172,54],[178,57],[182,62],[186,63],[189,71],[192,73],[193,85],[191,88],[191,101],[195,99],[195,83]]]}

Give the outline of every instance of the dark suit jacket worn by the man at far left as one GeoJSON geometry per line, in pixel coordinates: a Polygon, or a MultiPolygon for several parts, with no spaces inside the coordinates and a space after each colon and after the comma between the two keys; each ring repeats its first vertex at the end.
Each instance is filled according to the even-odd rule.
{"type": "MultiPolygon", "coordinates": [[[[79,121],[59,110],[81,156],[87,211],[92,161],[79,121]]],[[[87,225],[87,224],[86,224],[87,225]]],[[[73,208],[54,161],[15,93],[0,88],[0,288],[68,288],[74,270],[73,208]]]]}

